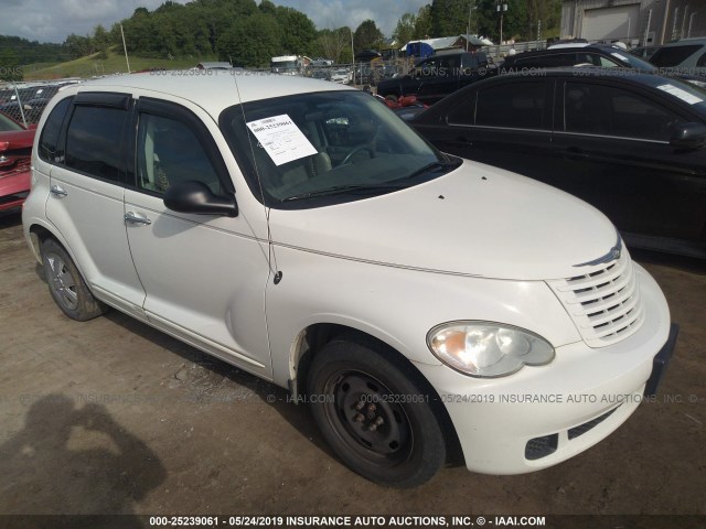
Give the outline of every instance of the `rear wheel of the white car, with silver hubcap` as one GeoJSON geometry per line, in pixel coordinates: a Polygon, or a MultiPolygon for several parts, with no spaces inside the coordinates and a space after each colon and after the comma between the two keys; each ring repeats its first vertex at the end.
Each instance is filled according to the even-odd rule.
{"type": "Polygon", "coordinates": [[[85,322],[106,312],[106,305],[93,296],[76,264],[56,240],[42,242],[42,263],[49,292],[64,314],[85,322]]]}

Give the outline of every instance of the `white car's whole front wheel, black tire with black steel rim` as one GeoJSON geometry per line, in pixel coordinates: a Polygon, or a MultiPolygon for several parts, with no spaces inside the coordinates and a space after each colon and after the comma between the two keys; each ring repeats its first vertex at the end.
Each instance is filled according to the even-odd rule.
{"type": "Polygon", "coordinates": [[[421,485],[446,461],[435,401],[410,366],[354,339],[334,338],[312,360],[307,389],[314,420],[361,476],[397,488],[421,485]]]}

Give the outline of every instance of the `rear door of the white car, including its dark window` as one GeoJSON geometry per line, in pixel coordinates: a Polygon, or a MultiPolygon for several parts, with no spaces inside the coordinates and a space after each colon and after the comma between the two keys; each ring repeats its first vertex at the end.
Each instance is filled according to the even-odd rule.
{"type": "Polygon", "coordinates": [[[53,153],[46,216],[66,241],[94,294],[145,317],[145,290],[124,219],[129,94],[79,93],[53,153]]]}

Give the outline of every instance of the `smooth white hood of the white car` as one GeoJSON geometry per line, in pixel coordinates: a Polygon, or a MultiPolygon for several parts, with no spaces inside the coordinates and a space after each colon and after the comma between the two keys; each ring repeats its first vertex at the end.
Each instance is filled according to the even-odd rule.
{"type": "Polygon", "coordinates": [[[272,242],[372,263],[547,280],[616,245],[600,212],[559,190],[464,161],[404,191],[334,206],[270,210],[272,242]]]}

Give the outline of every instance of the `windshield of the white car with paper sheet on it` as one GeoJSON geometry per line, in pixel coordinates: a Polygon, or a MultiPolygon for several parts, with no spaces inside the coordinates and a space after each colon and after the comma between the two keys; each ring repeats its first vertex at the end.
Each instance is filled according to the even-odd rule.
{"type": "Polygon", "coordinates": [[[363,199],[431,180],[460,163],[357,90],[234,106],[223,111],[220,125],[253,194],[275,208],[363,199]]]}

